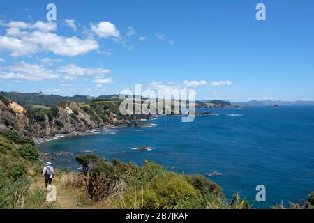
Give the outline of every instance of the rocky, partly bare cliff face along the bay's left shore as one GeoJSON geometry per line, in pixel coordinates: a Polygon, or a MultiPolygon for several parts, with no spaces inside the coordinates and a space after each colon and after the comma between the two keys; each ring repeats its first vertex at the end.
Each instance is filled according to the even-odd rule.
{"type": "MultiPolygon", "coordinates": [[[[149,118],[149,117],[144,117],[149,118]]],[[[15,102],[0,100],[0,130],[15,130],[27,137],[85,132],[105,126],[133,125],[132,116],[119,116],[118,102],[63,102],[59,107],[31,113],[15,102]]]]}

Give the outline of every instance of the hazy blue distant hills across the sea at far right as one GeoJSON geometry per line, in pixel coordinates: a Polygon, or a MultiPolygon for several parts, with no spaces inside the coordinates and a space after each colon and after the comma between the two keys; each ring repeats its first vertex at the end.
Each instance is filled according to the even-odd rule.
{"type": "Polygon", "coordinates": [[[279,106],[314,105],[314,102],[313,101],[289,102],[289,101],[273,101],[273,100],[263,100],[263,101],[252,100],[249,102],[232,102],[232,105],[253,106],[253,107],[272,107],[274,105],[279,105],[279,106]]]}

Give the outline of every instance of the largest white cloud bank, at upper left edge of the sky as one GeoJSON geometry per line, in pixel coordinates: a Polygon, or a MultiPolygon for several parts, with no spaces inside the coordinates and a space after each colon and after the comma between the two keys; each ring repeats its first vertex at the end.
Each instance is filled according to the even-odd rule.
{"type": "Polygon", "coordinates": [[[98,43],[93,38],[80,39],[76,36],[66,37],[50,33],[57,29],[52,22],[1,23],[7,26],[6,36],[0,36],[0,51],[9,52],[11,56],[31,55],[37,52],[53,52],[62,56],[84,55],[98,49],[98,43]],[[22,31],[21,31],[22,29],[22,31]],[[29,30],[35,29],[35,30],[29,30]]]}

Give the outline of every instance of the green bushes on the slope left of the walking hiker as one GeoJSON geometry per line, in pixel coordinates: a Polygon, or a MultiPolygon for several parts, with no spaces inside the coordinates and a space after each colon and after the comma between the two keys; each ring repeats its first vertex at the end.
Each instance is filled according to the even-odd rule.
{"type": "MultiPolygon", "coordinates": [[[[38,173],[38,151],[31,144],[17,143],[0,137],[0,209],[12,208],[55,208],[45,201],[45,190],[29,192],[31,174],[29,169],[38,173]],[[26,157],[27,159],[25,159],[26,157]]],[[[38,173],[39,174],[39,173],[38,173]]]]}

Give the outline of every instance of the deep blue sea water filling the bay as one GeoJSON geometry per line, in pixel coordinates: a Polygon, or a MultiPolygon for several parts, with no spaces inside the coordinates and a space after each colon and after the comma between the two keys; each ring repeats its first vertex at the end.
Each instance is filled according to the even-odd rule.
{"type": "Polygon", "coordinates": [[[218,116],[197,116],[193,123],[160,116],[151,121],[154,128],[104,130],[39,148],[73,153],[57,156],[54,167],[77,169],[74,157],[86,150],[137,164],[152,160],[178,173],[207,176],[228,198],[240,192],[255,208],[298,202],[314,190],[314,107],[208,110],[218,116]],[[151,151],[137,151],[137,146],[149,146],[151,151]],[[223,176],[209,177],[214,171],[223,176]],[[266,187],[266,202],[254,201],[255,187],[261,184],[266,187]]]}

